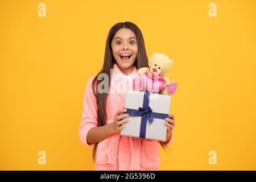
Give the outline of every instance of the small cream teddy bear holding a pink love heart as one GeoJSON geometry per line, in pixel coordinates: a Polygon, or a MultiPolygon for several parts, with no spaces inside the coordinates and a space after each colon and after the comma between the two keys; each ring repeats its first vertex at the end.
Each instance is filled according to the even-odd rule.
{"type": "Polygon", "coordinates": [[[133,80],[133,90],[141,91],[145,89],[149,93],[169,96],[174,94],[177,88],[176,82],[170,82],[168,77],[164,76],[170,71],[172,63],[172,59],[168,56],[154,52],[148,59],[150,68],[143,67],[138,69],[139,77],[135,77],[133,80]]]}

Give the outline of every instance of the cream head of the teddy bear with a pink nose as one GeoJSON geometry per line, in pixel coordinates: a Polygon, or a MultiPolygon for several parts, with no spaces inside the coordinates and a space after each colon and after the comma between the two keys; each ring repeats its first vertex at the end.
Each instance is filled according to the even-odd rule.
{"type": "Polygon", "coordinates": [[[162,53],[154,52],[148,59],[150,72],[153,74],[164,75],[171,70],[172,63],[173,61],[162,53]]]}

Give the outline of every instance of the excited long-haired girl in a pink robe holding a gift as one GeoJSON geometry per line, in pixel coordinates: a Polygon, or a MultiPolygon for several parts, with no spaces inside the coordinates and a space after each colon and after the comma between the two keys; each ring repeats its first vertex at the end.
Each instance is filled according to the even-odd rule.
{"type": "MultiPolygon", "coordinates": [[[[106,41],[102,70],[88,80],[79,128],[81,142],[86,146],[94,144],[95,170],[159,170],[157,140],[119,135],[129,115],[123,109],[125,92],[117,92],[116,85],[122,83],[129,88],[142,67],[148,67],[148,60],[141,30],[131,22],[115,24],[106,41]],[[110,78],[107,93],[98,90],[102,85],[98,76],[102,73],[110,78]],[[118,74],[121,79],[117,80],[118,74]]],[[[174,115],[166,118],[165,125],[167,142],[160,142],[163,148],[171,142],[174,115]]]]}

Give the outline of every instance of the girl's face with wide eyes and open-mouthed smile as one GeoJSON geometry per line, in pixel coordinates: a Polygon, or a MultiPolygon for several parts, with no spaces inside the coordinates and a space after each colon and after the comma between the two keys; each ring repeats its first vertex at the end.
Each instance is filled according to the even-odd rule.
{"type": "Polygon", "coordinates": [[[133,71],[137,59],[137,38],[129,28],[121,28],[115,34],[112,43],[112,53],[119,69],[128,75],[133,71]]]}

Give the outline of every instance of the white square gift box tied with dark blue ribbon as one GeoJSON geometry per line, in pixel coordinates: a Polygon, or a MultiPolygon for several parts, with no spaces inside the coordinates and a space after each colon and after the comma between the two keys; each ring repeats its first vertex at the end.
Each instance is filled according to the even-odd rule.
{"type": "Polygon", "coordinates": [[[127,90],[125,108],[130,116],[128,122],[123,124],[120,135],[166,142],[167,127],[164,122],[168,118],[170,104],[171,96],[127,90]]]}

